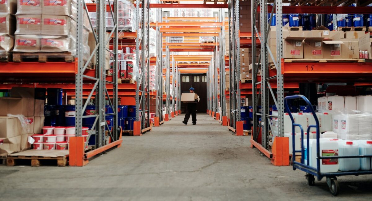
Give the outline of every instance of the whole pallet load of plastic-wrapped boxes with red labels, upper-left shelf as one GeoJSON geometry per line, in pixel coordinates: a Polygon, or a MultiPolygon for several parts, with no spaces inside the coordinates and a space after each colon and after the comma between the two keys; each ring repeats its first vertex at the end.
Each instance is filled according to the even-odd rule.
{"type": "MultiPolygon", "coordinates": [[[[13,61],[72,62],[76,54],[77,3],[73,0],[17,0],[13,61]]],[[[89,58],[89,19],[81,30],[83,60],[89,58]]]]}

